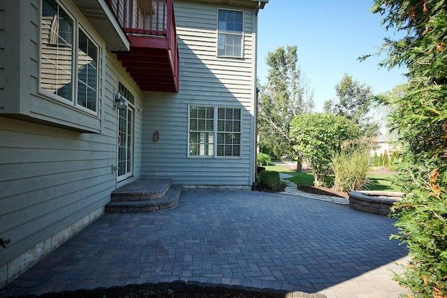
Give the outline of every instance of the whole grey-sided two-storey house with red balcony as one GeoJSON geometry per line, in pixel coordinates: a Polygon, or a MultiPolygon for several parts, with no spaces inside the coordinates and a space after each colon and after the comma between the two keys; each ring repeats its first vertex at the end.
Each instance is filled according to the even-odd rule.
{"type": "Polygon", "coordinates": [[[251,188],[267,2],[0,0],[0,286],[141,177],[251,188]]]}

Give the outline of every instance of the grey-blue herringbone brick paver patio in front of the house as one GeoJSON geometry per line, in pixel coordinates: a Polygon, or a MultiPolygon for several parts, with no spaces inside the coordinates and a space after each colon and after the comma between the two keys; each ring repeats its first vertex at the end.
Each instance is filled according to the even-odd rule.
{"type": "Polygon", "coordinates": [[[393,219],[329,202],[183,191],[175,209],[101,216],[0,297],[178,280],[318,292],[406,256],[395,232],[393,219]]]}

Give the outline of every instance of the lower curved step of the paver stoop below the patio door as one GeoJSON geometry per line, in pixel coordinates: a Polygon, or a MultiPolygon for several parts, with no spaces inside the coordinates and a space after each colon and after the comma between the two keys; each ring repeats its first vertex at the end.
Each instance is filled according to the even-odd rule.
{"type": "Polygon", "coordinates": [[[105,205],[105,212],[110,213],[141,213],[155,212],[171,209],[179,203],[182,186],[174,184],[162,198],[151,200],[128,200],[123,202],[110,202],[105,205]]]}

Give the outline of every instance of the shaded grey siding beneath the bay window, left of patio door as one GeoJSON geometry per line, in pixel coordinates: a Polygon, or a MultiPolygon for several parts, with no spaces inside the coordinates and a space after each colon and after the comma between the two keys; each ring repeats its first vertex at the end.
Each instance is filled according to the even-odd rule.
{"type": "Polygon", "coordinates": [[[0,139],[0,227],[12,239],[2,260],[110,200],[116,160],[110,137],[0,117],[0,139]]]}

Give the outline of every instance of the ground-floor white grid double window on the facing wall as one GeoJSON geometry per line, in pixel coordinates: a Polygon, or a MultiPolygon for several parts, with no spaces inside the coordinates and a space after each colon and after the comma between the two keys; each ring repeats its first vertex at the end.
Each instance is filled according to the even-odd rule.
{"type": "Polygon", "coordinates": [[[241,109],[189,107],[189,156],[240,157],[241,109]]]}

